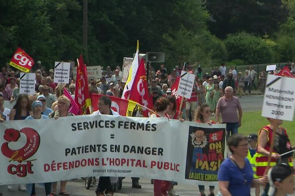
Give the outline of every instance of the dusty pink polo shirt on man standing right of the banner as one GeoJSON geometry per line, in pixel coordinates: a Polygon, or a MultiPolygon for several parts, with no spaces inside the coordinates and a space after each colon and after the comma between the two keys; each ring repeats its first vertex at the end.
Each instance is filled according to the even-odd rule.
{"type": "Polygon", "coordinates": [[[238,122],[236,109],[241,108],[241,105],[237,97],[233,96],[230,100],[225,99],[224,96],[219,98],[216,108],[221,112],[222,123],[238,122]]]}

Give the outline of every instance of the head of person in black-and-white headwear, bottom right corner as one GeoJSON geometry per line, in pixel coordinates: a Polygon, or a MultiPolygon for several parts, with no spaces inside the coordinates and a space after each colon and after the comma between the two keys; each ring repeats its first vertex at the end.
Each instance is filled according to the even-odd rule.
{"type": "Polygon", "coordinates": [[[268,196],[288,196],[294,193],[294,168],[280,163],[267,172],[269,181],[268,196]]]}

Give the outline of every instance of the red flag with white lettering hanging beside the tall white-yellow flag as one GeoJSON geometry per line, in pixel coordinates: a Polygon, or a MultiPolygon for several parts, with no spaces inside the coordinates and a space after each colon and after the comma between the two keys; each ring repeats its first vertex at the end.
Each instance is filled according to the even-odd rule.
{"type": "MultiPolygon", "coordinates": [[[[148,109],[152,109],[152,100],[148,94],[148,81],[147,73],[145,68],[145,60],[142,58],[140,60],[137,73],[134,78],[134,82],[130,91],[130,100],[133,100],[148,109]]],[[[149,110],[143,107],[143,116],[148,117],[149,110]]]]}

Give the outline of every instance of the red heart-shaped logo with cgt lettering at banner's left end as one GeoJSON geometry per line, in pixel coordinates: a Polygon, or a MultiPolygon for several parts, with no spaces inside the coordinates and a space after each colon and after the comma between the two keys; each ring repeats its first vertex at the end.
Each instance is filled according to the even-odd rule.
{"type": "Polygon", "coordinates": [[[27,174],[32,174],[32,161],[36,159],[29,160],[29,158],[39,148],[40,136],[38,132],[29,127],[22,128],[20,131],[8,128],[4,131],[3,138],[6,142],[1,146],[2,154],[9,158],[9,163],[18,162],[17,164],[9,164],[7,172],[12,175],[16,174],[19,177],[26,177],[27,174]],[[25,143],[25,145],[23,146],[22,143],[25,143]]]}

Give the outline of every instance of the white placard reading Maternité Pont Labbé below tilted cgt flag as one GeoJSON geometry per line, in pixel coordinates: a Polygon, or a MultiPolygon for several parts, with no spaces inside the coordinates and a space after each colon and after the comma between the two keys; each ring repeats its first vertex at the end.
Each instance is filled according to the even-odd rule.
{"type": "Polygon", "coordinates": [[[34,95],[35,94],[35,73],[20,74],[20,94],[34,95]]]}

